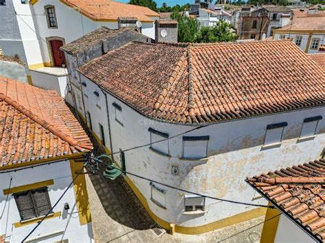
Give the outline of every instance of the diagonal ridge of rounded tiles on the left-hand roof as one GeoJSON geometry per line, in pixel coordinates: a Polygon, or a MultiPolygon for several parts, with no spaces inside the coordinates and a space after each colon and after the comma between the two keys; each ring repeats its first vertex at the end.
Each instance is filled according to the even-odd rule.
{"type": "Polygon", "coordinates": [[[38,117],[37,115],[34,115],[30,110],[27,110],[23,105],[19,105],[18,102],[12,100],[7,95],[0,92],[0,99],[5,101],[5,103],[8,103],[8,105],[11,105],[16,110],[27,116],[28,118],[34,120],[35,123],[38,125],[44,127],[51,133],[53,133],[55,136],[58,136],[58,138],[64,140],[65,142],[68,142],[71,146],[82,146],[79,144],[75,138],[72,138],[71,136],[67,135],[66,133],[60,131],[59,129],[56,129],[53,125],[47,123],[46,120],[43,120],[42,118],[38,117]]]}

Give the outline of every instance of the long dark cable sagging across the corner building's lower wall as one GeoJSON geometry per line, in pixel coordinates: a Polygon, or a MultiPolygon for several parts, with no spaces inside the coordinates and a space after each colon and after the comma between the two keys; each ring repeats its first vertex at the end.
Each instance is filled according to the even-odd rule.
{"type": "MultiPolygon", "coordinates": [[[[93,159],[95,159],[97,162],[100,162],[101,164],[105,164],[106,166],[109,166],[107,163],[105,162],[102,162],[100,159],[97,159],[95,157],[92,157],[93,159]]],[[[191,192],[189,190],[184,190],[182,188],[176,188],[175,186],[170,186],[170,185],[167,185],[165,183],[162,183],[162,182],[158,182],[158,181],[155,181],[153,179],[148,179],[146,177],[142,177],[141,175],[136,175],[132,172],[128,172],[126,170],[122,170],[121,168],[117,168],[115,167],[117,170],[120,170],[121,172],[125,173],[125,174],[128,174],[128,175],[132,175],[134,177],[138,177],[140,179],[144,179],[146,181],[150,181],[150,182],[154,182],[154,183],[157,183],[157,184],[160,184],[162,186],[165,186],[167,188],[172,188],[174,190],[179,190],[181,192],[186,192],[186,193],[189,193],[189,194],[194,194],[194,195],[197,195],[197,196],[204,196],[205,198],[207,199],[213,199],[213,200],[218,200],[218,201],[223,201],[223,202],[226,202],[226,203],[234,203],[234,204],[241,204],[241,205],[248,205],[248,206],[254,206],[254,207],[267,207],[267,208],[275,208],[274,206],[269,206],[269,205],[259,205],[259,204],[254,204],[254,203],[244,203],[244,202],[239,202],[239,201],[233,201],[233,200],[228,200],[228,199],[219,199],[217,197],[214,197],[214,196],[207,196],[207,195],[204,195],[204,194],[200,194],[200,193],[197,193],[197,192],[191,192]]]]}

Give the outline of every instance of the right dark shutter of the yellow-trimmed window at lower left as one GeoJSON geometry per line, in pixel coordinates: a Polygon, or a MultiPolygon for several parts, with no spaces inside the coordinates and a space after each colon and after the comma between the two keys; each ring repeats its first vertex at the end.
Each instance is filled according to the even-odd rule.
{"type": "Polygon", "coordinates": [[[49,201],[49,193],[47,188],[40,188],[31,191],[35,203],[37,216],[43,216],[51,210],[51,202],[49,201]]]}

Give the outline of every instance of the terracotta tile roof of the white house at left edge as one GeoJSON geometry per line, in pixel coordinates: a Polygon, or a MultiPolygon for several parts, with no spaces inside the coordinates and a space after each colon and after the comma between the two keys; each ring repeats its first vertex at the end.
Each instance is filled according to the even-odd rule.
{"type": "Polygon", "coordinates": [[[55,91],[0,77],[0,167],[92,148],[55,91]]]}

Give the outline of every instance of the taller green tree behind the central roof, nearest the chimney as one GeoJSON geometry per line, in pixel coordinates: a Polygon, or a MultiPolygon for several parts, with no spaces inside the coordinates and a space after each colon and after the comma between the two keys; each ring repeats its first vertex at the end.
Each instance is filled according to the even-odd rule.
{"type": "Polygon", "coordinates": [[[199,30],[197,20],[182,16],[179,12],[173,12],[171,18],[178,21],[178,42],[195,42],[199,30]]]}

